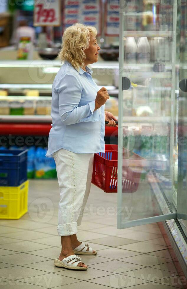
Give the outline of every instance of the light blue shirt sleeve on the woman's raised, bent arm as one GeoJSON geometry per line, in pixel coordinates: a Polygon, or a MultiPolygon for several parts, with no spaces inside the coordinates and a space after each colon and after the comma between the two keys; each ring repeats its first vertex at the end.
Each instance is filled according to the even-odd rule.
{"type": "Polygon", "coordinates": [[[56,86],[59,95],[59,114],[63,124],[76,124],[92,116],[95,109],[95,101],[78,106],[82,86],[74,75],[65,74],[56,86]]]}

